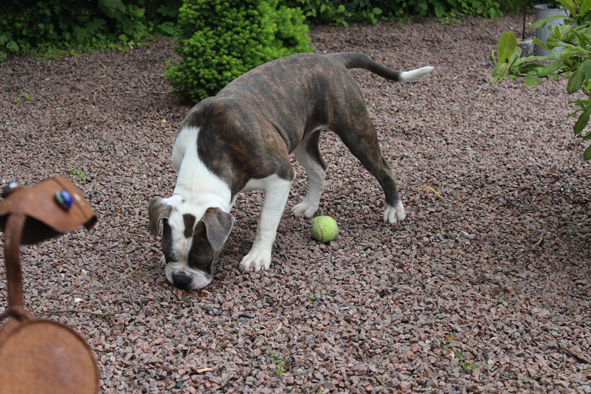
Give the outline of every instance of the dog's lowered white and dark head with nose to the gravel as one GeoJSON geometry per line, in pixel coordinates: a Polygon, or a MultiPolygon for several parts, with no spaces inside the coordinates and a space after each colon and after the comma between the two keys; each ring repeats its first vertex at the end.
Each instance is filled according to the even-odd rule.
{"type": "Polygon", "coordinates": [[[181,196],[154,197],[148,208],[150,232],[160,233],[168,282],[194,290],[212,281],[213,262],[230,235],[234,218],[218,207],[187,204],[181,196]]]}

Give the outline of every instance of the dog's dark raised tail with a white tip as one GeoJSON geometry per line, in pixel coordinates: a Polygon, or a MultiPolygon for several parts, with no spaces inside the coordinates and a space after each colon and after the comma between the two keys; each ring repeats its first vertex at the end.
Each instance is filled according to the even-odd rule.
{"type": "Polygon", "coordinates": [[[385,79],[389,79],[395,82],[414,82],[423,79],[428,73],[433,70],[433,67],[421,67],[417,70],[412,71],[394,71],[388,69],[388,67],[382,66],[379,63],[371,60],[368,56],[362,53],[356,52],[341,52],[325,55],[331,60],[335,60],[347,69],[365,69],[369,70],[374,74],[378,74],[385,79]]]}

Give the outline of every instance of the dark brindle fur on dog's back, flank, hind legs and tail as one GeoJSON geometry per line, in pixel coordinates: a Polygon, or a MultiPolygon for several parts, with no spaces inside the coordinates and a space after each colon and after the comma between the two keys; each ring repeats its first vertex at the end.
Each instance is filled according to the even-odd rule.
{"type": "Polygon", "coordinates": [[[199,157],[231,185],[232,198],[251,178],[278,174],[293,179],[288,156],[315,131],[317,136],[308,141],[307,151],[326,168],[317,148],[317,129],[329,129],[378,179],[387,203],[394,206],[399,200],[394,175],[381,156],[361,89],[346,71],[365,66],[399,80],[399,73],[362,54],[288,56],[255,67],[216,96],[202,100],[191,109],[181,129],[200,127],[199,157]],[[302,102],[299,97],[312,100],[302,102]]]}

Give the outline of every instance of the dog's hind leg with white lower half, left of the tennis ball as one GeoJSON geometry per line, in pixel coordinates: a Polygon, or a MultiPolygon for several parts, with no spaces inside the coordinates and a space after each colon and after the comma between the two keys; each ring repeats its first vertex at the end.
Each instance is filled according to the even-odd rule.
{"type": "Polygon", "coordinates": [[[297,161],[306,169],[310,183],[306,197],[291,209],[291,213],[295,216],[312,217],[320,204],[320,196],[324,190],[326,163],[318,149],[319,139],[320,129],[307,135],[293,151],[297,161]]]}

